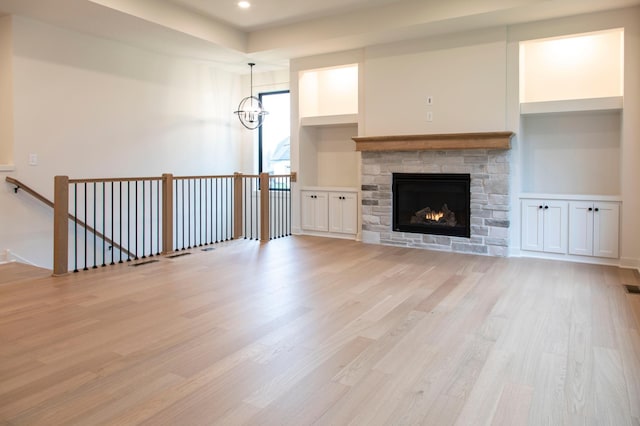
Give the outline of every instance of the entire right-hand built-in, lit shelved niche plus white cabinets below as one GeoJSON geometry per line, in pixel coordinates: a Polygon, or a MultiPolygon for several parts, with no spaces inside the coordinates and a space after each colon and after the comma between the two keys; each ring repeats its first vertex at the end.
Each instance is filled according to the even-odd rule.
{"type": "Polygon", "coordinates": [[[522,40],[519,50],[520,248],[618,258],[624,29],[522,40]]]}

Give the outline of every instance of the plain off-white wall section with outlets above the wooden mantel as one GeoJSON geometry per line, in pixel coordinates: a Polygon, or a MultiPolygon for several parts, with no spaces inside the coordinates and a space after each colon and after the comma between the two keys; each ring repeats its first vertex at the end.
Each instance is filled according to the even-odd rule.
{"type": "Polygon", "coordinates": [[[504,28],[367,48],[365,134],[505,130],[505,79],[504,28]]]}

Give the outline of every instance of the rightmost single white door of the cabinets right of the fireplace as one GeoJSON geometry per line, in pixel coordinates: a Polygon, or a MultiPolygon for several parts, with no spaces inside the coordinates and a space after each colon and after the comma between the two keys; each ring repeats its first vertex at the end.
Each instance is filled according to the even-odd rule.
{"type": "Polygon", "coordinates": [[[593,255],[618,257],[620,205],[596,202],[593,208],[593,255]]]}

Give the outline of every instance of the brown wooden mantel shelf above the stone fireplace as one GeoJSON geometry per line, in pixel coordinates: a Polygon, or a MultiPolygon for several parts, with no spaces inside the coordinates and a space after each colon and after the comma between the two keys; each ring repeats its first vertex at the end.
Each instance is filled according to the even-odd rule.
{"type": "Polygon", "coordinates": [[[445,149],[510,149],[513,132],[440,135],[357,136],[356,151],[428,151],[445,149]]]}

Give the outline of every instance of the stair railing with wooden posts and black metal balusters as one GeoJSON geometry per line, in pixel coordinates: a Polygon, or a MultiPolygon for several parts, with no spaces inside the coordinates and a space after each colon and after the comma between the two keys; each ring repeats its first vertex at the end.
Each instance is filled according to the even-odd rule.
{"type": "Polygon", "coordinates": [[[70,266],[74,272],[95,269],[242,237],[266,242],[291,235],[290,190],[295,181],[295,173],[56,176],[53,273],[66,274],[70,266]]]}

